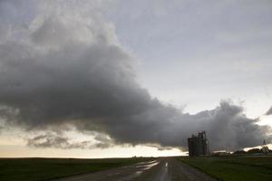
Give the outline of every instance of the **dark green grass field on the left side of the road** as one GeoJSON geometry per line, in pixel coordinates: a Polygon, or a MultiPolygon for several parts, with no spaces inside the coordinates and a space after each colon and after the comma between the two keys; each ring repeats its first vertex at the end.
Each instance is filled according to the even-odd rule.
{"type": "Polygon", "coordinates": [[[0,158],[0,180],[34,181],[73,176],[147,161],[151,157],[69,159],[69,158],[0,158]]]}

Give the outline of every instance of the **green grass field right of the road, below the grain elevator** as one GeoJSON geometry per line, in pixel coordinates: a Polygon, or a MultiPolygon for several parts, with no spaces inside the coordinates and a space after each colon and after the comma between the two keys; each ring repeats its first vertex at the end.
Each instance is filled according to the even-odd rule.
{"type": "Polygon", "coordinates": [[[272,157],[181,157],[180,161],[219,180],[272,180],[272,157]]]}

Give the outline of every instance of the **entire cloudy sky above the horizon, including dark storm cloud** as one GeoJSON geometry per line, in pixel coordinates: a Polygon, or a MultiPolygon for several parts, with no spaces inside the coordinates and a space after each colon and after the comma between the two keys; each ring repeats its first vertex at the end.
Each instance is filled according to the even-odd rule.
{"type": "Polygon", "coordinates": [[[0,157],[270,143],[267,0],[0,1],[0,157]]]}

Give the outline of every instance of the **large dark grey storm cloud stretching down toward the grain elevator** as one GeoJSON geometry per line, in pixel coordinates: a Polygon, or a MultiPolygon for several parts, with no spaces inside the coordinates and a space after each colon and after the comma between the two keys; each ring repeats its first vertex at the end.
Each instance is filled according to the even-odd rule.
{"type": "MultiPolygon", "coordinates": [[[[0,7],[6,4],[0,2],[0,7]]],[[[0,31],[0,114],[7,125],[27,130],[62,132],[70,125],[111,139],[94,145],[71,142],[54,131],[29,138],[29,146],[185,148],[187,138],[201,130],[207,131],[214,149],[253,147],[270,139],[269,127],[258,126],[231,102],[190,115],[152,98],[138,84],[133,55],[118,43],[112,24],[100,14],[83,18],[68,14],[69,4],[57,6],[66,15],[38,8],[26,25],[0,25],[0,30],[13,27],[0,31]]]]}

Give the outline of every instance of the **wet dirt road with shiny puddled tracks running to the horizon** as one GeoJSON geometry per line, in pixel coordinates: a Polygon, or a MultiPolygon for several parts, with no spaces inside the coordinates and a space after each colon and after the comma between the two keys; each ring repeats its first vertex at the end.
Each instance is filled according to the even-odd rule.
{"type": "MultiPolygon", "coordinates": [[[[215,181],[209,176],[180,161],[165,157],[128,167],[119,167],[102,172],[71,176],[57,181],[215,181]]],[[[56,181],[56,180],[55,180],[56,181]]]]}

